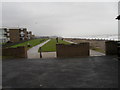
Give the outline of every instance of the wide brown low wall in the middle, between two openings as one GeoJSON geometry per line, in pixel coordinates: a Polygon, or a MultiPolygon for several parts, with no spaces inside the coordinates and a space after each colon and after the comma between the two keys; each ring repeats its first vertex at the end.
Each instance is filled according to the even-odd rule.
{"type": "Polygon", "coordinates": [[[56,44],[58,58],[86,57],[89,56],[89,43],[80,44],[56,44]]]}

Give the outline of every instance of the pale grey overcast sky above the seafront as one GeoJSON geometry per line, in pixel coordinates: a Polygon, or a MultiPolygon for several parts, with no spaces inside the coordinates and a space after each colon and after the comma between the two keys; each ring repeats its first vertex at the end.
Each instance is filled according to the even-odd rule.
{"type": "Polygon", "coordinates": [[[26,27],[35,35],[79,37],[117,34],[117,2],[4,2],[3,27],[26,27]]]}

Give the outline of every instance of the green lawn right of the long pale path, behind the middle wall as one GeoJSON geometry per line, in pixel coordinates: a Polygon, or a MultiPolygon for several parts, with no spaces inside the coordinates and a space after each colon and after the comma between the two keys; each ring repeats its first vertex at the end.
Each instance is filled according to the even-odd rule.
{"type": "MultiPolygon", "coordinates": [[[[60,44],[70,44],[69,42],[65,42],[61,39],[58,40],[58,43],[60,44]]],[[[42,46],[42,52],[54,52],[56,51],[56,39],[51,39],[48,43],[46,43],[44,46],[42,46]]],[[[40,52],[38,50],[38,52],[40,52]]]]}

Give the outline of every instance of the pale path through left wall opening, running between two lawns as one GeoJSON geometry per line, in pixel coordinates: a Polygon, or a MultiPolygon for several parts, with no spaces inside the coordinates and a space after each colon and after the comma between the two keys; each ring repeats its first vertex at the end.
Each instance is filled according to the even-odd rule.
{"type": "Polygon", "coordinates": [[[29,49],[27,51],[27,54],[28,54],[28,59],[32,59],[32,58],[40,58],[40,53],[38,53],[38,49],[39,47],[45,45],[46,43],[48,43],[51,39],[35,46],[35,47],[32,47],[31,49],[29,49]]]}

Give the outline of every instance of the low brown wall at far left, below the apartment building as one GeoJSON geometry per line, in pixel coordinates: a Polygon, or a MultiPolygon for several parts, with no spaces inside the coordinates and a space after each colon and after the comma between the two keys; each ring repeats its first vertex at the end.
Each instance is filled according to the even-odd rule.
{"type": "Polygon", "coordinates": [[[3,48],[2,56],[12,56],[15,58],[27,58],[27,48],[26,47],[3,48]]]}

